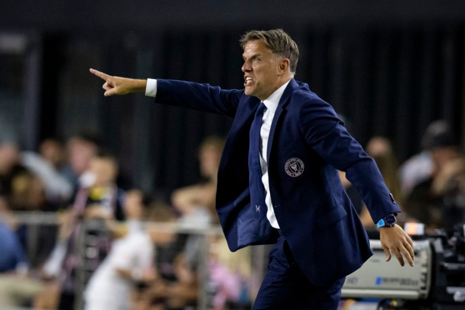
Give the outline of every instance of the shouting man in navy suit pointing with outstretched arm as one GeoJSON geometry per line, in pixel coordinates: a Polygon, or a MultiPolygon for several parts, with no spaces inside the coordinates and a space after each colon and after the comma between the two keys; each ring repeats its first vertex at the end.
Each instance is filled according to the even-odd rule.
{"type": "Polygon", "coordinates": [[[382,246],[413,266],[413,243],[373,159],[332,107],[294,80],[298,48],[282,30],[249,31],[244,90],[91,69],[105,95],[145,92],[155,102],[234,118],[217,185],[217,213],[231,250],[274,243],[253,309],[337,309],[345,276],[371,255],[337,170],[358,189],[382,246]]]}

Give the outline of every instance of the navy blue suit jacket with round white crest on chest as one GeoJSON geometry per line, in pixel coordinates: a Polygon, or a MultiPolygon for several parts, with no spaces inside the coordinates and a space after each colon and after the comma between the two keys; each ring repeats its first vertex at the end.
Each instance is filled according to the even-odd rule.
{"type": "MultiPolygon", "coordinates": [[[[244,90],[158,79],[155,102],[234,118],[218,170],[221,226],[233,251],[276,242],[265,208],[250,204],[249,130],[260,100],[244,90]]],[[[359,268],[372,252],[337,170],[346,171],[373,221],[400,209],[373,159],[307,84],[292,79],[286,87],[273,118],[267,156],[274,212],[308,279],[324,285],[359,268]],[[297,167],[290,168],[296,161],[297,167]]]]}

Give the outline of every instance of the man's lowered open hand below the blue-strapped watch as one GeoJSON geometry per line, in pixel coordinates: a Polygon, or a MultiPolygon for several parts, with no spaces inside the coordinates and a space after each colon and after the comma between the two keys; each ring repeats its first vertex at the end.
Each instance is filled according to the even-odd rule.
{"type": "Polygon", "coordinates": [[[380,227],[381,246],[386,253],[386,262],[391,259],[391,253],[397,257],[401,266],[405,265],[403,258],[413,267],[415,254],[413,252],[413,241],[399,225],[393,227],[380,227]]]}

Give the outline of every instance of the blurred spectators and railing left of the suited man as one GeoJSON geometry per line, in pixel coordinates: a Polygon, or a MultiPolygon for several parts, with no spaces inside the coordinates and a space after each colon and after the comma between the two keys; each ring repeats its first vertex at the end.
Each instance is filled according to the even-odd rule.
{"type": "Polygon", "coordinates": [[[266,253],[231,253],[218,227],[223,143],[204,140],[202,181],[172,204],[121,189],[117,158],[90,136],[37,153],[2,143],[0,309],[250,308],[266,253]]]}

